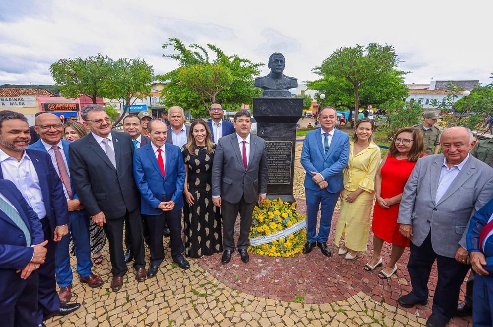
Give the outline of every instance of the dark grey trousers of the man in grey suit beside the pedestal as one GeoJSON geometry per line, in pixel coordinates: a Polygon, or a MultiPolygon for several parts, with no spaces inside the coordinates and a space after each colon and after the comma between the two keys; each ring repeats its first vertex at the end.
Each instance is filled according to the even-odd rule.
{"type": "Polygon", "coordinates": [[[245,199],[240,199],[238,203],[227,202],[224,199],[221,204],[221,212],[223,219],[223,244],[225,250],[235,249],[235,222],[238,213],[240,213],[240,235],[238,237],[238,249],[248,248],[248,234],[252,222],[253,208],[256,203],[246,203],[245,199]]]}

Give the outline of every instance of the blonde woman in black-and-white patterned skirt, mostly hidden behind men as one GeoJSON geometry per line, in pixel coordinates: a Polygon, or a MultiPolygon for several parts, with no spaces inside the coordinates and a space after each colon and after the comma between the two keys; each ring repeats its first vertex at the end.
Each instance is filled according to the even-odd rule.
{"type": "MultiPolygon", "coordinates": [[[[87,135],[87,130],[80,122],[69,120],[63,128],[64,138],[67,141],[73,142],[87,135]]],[[[88,218],[89,219],[89,218],[88,218]]],[[[103,255],[101,250],[106,244],[106,234],[103,227],[96,224],[92,219],[89,219],[89,242],[91,244],[91,254],[96,265],[101,264],[103,255]]],[[[70,254],[75,255],[75,247],[73,239],[70,236],[70,254]]]]}

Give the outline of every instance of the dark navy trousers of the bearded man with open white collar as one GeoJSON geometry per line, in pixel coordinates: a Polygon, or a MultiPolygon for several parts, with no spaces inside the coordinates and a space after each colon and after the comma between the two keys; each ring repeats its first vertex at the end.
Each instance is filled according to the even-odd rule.
{"type": "Polygon", "coordinates": [[[44,239],[48,240],[45,248],[46,259],[37,273],[39,275],[39,305],[37,309],[37,323],[43,322],[43,316],[50,312],[60,309],[60,298],[57,293],[57,282],[55,279],[55,242],[53,241],[53,231],[51,230],[50,220],[48,218],[41,219],[43,226],[44,239]]]}

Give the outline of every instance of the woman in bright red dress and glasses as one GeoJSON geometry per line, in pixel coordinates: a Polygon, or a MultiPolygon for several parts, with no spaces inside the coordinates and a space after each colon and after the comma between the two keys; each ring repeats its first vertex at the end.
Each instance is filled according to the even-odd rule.
{"type": "Polygon", "coordinates": [[[404,186],[424,150],[421,131],[414,127],[404,127],[397,131],[375,176],[375,197],[373,209],[373,257],[365,265],[371,271],[382,266],[380,253],[384,241],[392,244],[390,262],[379,272],[380,278],[390,278],[397,271],[397,261],[409,247],[409,238],[399,231],[397,216],[404,186]]]}

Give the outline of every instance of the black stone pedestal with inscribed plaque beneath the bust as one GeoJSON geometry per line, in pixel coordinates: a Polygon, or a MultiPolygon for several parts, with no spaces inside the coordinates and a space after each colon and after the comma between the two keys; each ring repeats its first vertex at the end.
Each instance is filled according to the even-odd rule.
{"type": "Polygon", "coordinates": [[[295,202],[293,196],[296,123],[303,112],[303,98],[253,98],[257,135],[266,141],[269,182],[267,198],[295,202]]]}

